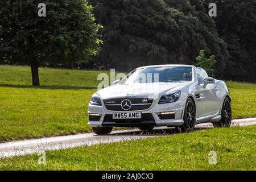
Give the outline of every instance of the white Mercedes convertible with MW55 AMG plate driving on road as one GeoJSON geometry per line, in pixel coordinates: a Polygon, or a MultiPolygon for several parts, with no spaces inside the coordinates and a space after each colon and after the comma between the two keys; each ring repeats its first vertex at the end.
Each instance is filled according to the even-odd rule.
{"type": "Polygon", "coordinates": [[[176,127],[192,131],[198,123],[229,127],[231,99],[224,81],[193,65],[137,68],[112,86],[94,93],[88,118],[96,134],[113,127],[176,127]]]}

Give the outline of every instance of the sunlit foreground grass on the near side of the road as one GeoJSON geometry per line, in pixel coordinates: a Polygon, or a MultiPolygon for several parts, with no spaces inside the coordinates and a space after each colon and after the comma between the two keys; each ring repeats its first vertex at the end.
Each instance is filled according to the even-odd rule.
{"type": "Polygon", "coordinates": [[[256,126],[204,129],[1,159],[0,170],[256,170],[256,126]],[[209,164],[209,152],[217,164],[209,164]]]}

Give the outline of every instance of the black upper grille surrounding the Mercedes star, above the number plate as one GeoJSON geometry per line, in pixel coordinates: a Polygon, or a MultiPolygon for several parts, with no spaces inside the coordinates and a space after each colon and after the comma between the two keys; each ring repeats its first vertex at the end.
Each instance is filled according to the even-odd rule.
{"type": "Polygon", "coordinates": [[[152,102],[154,101],[154,100],[148,99],[148,98],[146,98],[147,102],[142,102],[143,98],[112,98],[112,99],[104,100],[104,104],[105,104],[106,109],[108,109],[108,110],[124,111],[121,107],[121,103],[123,100],[126,100],[126,99],[131,101],[131,108],[126,111],[149,109],[152,102]]]}

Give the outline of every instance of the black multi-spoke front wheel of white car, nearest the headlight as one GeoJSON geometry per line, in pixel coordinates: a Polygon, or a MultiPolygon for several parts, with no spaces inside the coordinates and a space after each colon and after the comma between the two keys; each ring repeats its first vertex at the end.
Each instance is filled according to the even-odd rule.
{"type": "Polygon", "coordinates": [[[188,98],[183,116],[183,125],[176,127],[176,132],[189,132],[195,129],[196,106],[191,98],[188,98]]]}

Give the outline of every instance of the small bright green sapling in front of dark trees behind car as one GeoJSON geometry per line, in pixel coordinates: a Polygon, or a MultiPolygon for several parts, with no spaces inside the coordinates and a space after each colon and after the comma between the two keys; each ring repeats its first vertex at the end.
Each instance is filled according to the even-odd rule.
{"type": "Polygon", "coordinates": [[[197,65],[204,69],[212,69],[213,65],[217,63],[214,55],[210,56],[209,59],[205,57],[205,50],[201,50],[199,56],[196,57],[198,61],[197,65]]]}

